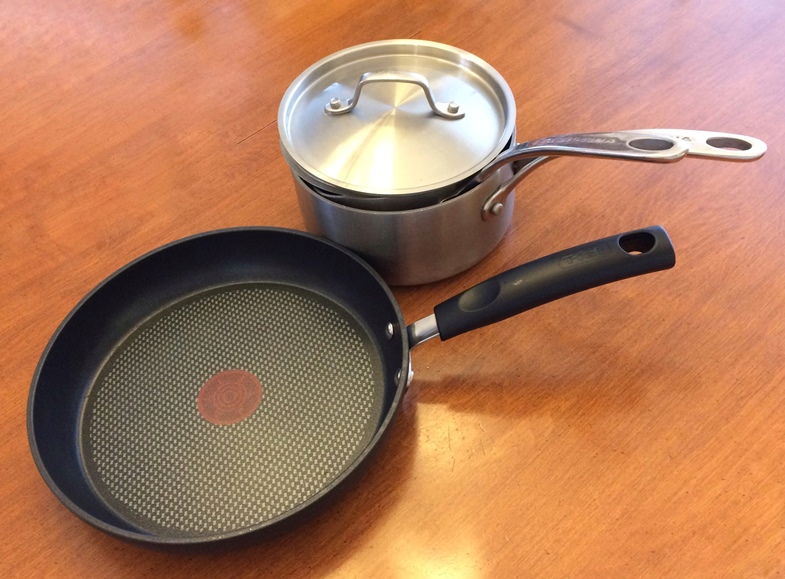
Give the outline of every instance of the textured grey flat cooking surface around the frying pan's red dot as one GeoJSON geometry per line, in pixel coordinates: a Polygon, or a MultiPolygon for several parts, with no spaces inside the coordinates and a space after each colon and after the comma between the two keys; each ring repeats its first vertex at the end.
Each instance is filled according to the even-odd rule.
{"type": "Polygon", "coordinates": [[[381,355],[350,312],[299,287],[235,284],[121,341],[85,399],[80,452],[123,519],[160,536],[215,535],[329,488],[373,438],[383,402],[381,355]],[[222,373],[261,386],[231,423],[198,402],[222,373]]]}

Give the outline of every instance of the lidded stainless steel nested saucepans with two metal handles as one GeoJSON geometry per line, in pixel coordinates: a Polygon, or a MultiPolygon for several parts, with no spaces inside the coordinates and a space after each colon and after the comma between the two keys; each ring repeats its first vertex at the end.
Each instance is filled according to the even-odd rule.
{"type": "Polygon", "coordinates": [[[550,159],[751,161],[766,151],[752,137],[671,129],[518,143],[515,114],[503,77],[452,46],[388,40],[320,60],[278,113],[306,228],[353,249],[392,285],[427,283],[499,243],[515,187],[550,159]]]}

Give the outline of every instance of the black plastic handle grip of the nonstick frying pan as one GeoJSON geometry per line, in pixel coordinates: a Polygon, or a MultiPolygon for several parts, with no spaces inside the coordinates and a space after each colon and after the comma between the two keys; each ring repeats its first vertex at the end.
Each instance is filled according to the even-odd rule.
{"type": "Polygon", "coordinates": [[[434,308],[442,340],[614,281],[669,269],[676,254],[658,226],[620,233],[518,266],[434,308]]]}

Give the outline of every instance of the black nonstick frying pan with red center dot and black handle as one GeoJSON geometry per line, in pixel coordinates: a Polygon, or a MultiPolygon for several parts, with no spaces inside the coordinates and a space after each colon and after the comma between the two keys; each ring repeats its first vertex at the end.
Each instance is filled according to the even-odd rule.
{"type": "Polygon", "coordinates": [[[411,348],[591,287],[672,267],[660,227],[525,264],[405,325],[361,259],[275,228],[204,233],[118,270],[36,369],[28,435],[54,494],[148,546],[205,546],[298,523],[376,449],[411,348]]]}

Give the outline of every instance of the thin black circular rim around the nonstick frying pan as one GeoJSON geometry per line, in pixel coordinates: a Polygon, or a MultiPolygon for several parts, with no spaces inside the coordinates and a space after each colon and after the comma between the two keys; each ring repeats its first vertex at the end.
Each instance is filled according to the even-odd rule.
{"type": "MultiPolygon", "coordinates": [[[[63,505],[65,505],[68,508],[68,510],[70,510],[77,517],[82,519],[84,522],[92,525],[93,527],[96,527],[97,529],[102,530],[109,535],[127,541],[148,544],[148,545],[187,547],[187,546],[197,546],[197,545],[206,546],[210,544],[218,544],[218,543],[229,541],[231,539],[239,539],[254,534],[259,534],[264,532],[265,530],[269,530],[270,528],[278,527],[280,523],[295,518],[297,515],[303,514],[303,511],[313,510],[313,508],[318,503],[322,502],[322,500],[325,497],[335,494],[336,491],[338,490],[338,487],[345,486],[347,479],[351,479],[352,475],[355,474],[356,471],[361,469],[361,467],[365,464],[366,460],[369,458],[369,455],[371,455],[376,450],[376,448],[380,445],[381,440],[384,438],[384,436],[387,433],[387,430],[390,426],[390,423],[392,422],[393,417],[397,414],[398,408],[400,407],[401,400],[406,390],[407,372],[405,370],[408,369],[409,362],[410,362],[409,344],[406,335],[406,324],[403,318],[403,313],[401,311],[401,308],[398,305],[398,302],[395,299],[395,296],[393,295],[392,290],[387,285],[387,283],[382,279],[382,277],[376,272],[375,269],[373,269],[364,259],[362,259],[357,254],[353,253],[352,251],[335,243],[330,239],[326,239],[304,231],[289,229],[284,227],[238,226],[238,227],[228,227],[228,228],[203,231],[180,239],[170,241],[164,245],[153,248],[139,255],[138,257],[132,259],[131,261],[127,262],[126,264],[122,265],[121,267],[117,268],[109,275],[104,277],[69,310],[68,314],[66,314],[66,316],[63,318],[63,320],[60,322],[60,324],[53,332],[52,336],[49,338],[46,346],[44,347],[41,353],[41,356],[39,357],[39,360],[35,367],[35,371],[33,373],[30,389],[28,391],[27,407],[26,407],[26,415],[27,415],[26,426],[27,426],[28,445],[30,446],[30,452],[32,454],[33,462],[35,463],[36,469],[38,470],[39,474],[43,478],[47,487],[49,487],[49,490],[57,497],[57,499],[63,505]],[[206,237],[219,237],[219,236],[232,235],[237,233],[271,233],[271,234],[299,236],[302,238],[310,239],[312,241],[330,247],[331,251],[336,251],[354,260],[377,283],[379,288],[385,294],[389,302],[389,305],[392,307],[397,317],[397,325],[398,325],[398,327],[396,328],[397,331],[395,331],[391,339],[397,339],[398,341],[400,341],[401,350],[402,350],[402,359],[400,364],[401,371],[395,380],[396,382],[395,395],[393,396],[392,401],[390,402],[389,409],[387,410],[381,422],[377,425],[376,432],[374,433],[373,437],[368,442],[368,444],[365,446],[365,448],[362,450],[362,452],[360,452],[360,454],[338,476],[336,476],[328,485],[325,485],[319,492],[309,497],[306,501],[300,503],[296,507],[284,513],[281,513],[280,515],[272,519],[268,519],[262,523],[258,523],[255,525],[250,525],[240,529],[235,529],[230,532],[215,533],[212,535],[193,536],[193,537],[159,536],[153,533],[146,533],[141,530],[131,531],[124,528],[120,528],[114,524],[107,523],[106,521],[87,512],[85,509],[77,505],[68,496],[68,494],[66,494],[66,492],[60,488],[60,486],[55,482],[54,478],[50,474],[49,468],[45,464],[41,456],[41,453],[39,452],[38,440],[35,434],[35,422],[34,422],[33,410],[36,402],[36,392],[37,392],[38,383],[41,377],[41,373],[47,363],[47,360],[49,359],[50,352],[58,343],[58,339],[60,335],[65,330],[65,328],[69,326],[69,323],[71,322],[73,317],[77,314],[77,312],[79,312],[85,306],[85,304],[87,304],[96,294],[102,291],[102,289],[108,283],[114,280],[116,277],[120,276],[127,270],[137,266],[139,263],[148,260],[151,256],[170,250],[173,247],[193,243],[198,239],[202,239],[206,237]]],[[[111,510],[111,508],[105,505],[105,502],[101,500],[100,497],[96,496],[96,498],[99,499],[99,501],[102,504],[104,504],[105,508],[111,510]]],[[[129,526],[133,526],[131,523],[128,524],[129,526]]]]}

